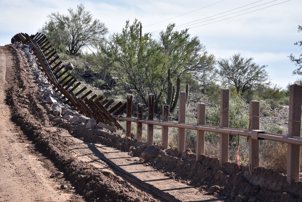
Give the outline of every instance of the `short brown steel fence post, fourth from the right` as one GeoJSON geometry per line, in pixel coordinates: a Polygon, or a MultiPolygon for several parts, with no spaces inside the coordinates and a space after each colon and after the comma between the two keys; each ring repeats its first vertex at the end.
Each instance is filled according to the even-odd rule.
{"type": "MultiPolygon", "coordinates": [[[[200,103],[197,105],[197,124],[206,124],[206,104],[200,103]]],[[[200,154],[204,154],[204,131],[197,131],[196,138],[196,161],[200,154]]]]}

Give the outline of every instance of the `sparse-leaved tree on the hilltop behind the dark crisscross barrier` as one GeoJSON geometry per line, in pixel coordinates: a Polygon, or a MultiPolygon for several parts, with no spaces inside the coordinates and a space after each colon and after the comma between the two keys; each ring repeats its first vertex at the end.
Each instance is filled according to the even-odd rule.
{"type": "Polygon", "coordinates": [[[105,24],[93,19],[93,15],[85,11],[83,4],[77,5],[75,10],[69,8],[67,15],[53,12],[47,18],[48,21],[39,31],[56,48],[66,48],[72,55],[80,53],[82,48],[89,47],[96,41],[103,40],[108,33],[105,24]]]}

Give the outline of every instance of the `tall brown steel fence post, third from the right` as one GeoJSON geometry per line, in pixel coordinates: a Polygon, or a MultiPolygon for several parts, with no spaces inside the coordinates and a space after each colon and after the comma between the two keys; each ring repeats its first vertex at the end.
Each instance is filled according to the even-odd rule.
{"type": "MultiPolygon", "coordinates": [[[[220,90],[220,127],[229,127],[230,90],[220,90]]],[[[229,134],[220,133],[219,163],[223,167],[229,161],[229,134]]]]}

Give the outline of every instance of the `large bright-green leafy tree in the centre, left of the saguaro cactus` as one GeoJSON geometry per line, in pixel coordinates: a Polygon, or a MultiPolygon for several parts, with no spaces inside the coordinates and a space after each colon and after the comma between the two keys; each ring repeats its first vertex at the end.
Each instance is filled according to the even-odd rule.
{"type": "Polygon", "coordinates": [[[159,40],[150,33],[142,34],[140,22],[129,21],[121,33],[114,33],[109,41],[108,58],[113,67],[123,72],[124,79],[141,100],[147,104],[149,93],[154,94],[155,110],[165,103],[168,87],[168,70],[171,80],[187,76],[199,80],[206,69],[214,65],[214,56],[205,51],[197,37],[190,38],[188,29],[173,31],[170,24],[162,31],[159,40]]]}

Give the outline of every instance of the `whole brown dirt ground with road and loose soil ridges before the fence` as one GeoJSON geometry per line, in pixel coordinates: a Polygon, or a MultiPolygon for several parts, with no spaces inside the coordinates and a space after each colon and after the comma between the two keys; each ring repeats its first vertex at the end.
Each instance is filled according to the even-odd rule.
{"type": "Polygon", "coordinates": [[[53,116],[27,66],[0,48],[0,201],[301,201],[301,182],[261,167],[171,148],[140,161],[146,144],[53,116]]]}

